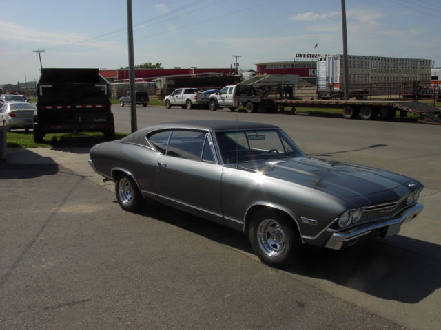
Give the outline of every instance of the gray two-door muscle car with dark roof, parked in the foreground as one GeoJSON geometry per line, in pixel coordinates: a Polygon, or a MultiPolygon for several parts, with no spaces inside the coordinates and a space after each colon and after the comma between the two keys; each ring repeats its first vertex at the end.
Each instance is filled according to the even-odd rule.
{"type": "Polygon", "coordinates": [[[378,168],[309,157],[277,126],[171,122],[90,151],[123,210],[154,199],[244,232],[260,260],[285,265],[303,244],[339,250],[397,234],[423,206],[420,182],[378,168]]]}

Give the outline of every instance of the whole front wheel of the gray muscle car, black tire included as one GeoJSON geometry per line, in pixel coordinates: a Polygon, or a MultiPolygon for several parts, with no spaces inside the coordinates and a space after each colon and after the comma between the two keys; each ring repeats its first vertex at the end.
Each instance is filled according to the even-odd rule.
{"type": "Polygon", "coordinates": [[[300,256],[302,242],[294,223],[281,212],[262,209],[249,225],[249,241],[260,261],[282,267],[300,256]]]}

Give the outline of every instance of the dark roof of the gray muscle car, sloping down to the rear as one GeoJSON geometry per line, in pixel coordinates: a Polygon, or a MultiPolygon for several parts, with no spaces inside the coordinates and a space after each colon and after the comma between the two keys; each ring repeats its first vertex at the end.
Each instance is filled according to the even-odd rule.
{"type": "Polygon", "coordinates": [[[244,122],[240,120],[192,120],[179,122],[163,122],[152,126],[144,127],[138,131],[123,137],[123,142],[137,143],[145,135],[154,131],[166,129],[196,129],[203,131],[236,131],[241,129],[278,129],[278,126],[263,124],[261,122],[244,122]]]}

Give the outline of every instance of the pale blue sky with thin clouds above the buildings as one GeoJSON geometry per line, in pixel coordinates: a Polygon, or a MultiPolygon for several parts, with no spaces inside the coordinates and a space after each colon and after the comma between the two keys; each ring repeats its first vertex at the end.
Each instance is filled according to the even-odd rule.
{"type": "MultiPolygon", "coordinates": [[[[0,84],[43,67],[128,65],[126,0],[0,0],[0,84]]],[[[132,0],[134,60],[230,67],[342,54],[340,0],[132,0]]],[[[441,67],[439,0],[346,0],[352,55],[429,58],[441,67]]]]}

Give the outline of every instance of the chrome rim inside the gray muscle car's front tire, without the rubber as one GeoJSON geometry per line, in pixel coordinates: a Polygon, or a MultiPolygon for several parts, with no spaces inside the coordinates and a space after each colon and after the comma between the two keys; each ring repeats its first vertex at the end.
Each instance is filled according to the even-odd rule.
{"type": "Polygon", "coordinates": [[[280,256],[285,250],[285,232],[280,223],[267,219],[259,223],[257,241],[267,256],[280,256]]]}

